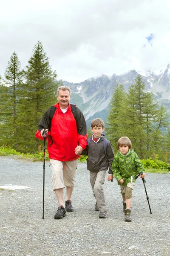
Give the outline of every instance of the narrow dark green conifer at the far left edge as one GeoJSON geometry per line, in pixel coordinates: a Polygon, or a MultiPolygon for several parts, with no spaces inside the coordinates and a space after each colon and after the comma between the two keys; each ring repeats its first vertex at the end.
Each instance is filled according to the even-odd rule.
{"type": "MultiPolygon", "coordinates": [[[[19,58],[14,52],[8,61],[4,85],[1,85],[0,111],[2,116],[3,143],[17,150],[17,107],[23,72],[19,58]]],[[[2,141],[1,141],[2,142],[2,141]]]]}

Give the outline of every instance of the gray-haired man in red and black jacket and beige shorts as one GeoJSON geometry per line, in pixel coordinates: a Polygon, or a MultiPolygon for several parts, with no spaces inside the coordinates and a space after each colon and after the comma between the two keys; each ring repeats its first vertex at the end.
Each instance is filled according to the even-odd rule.
{"type": "Polygon", "coordinates": [[[51,162],[53,190],[58,200],[58,210],[54,218],[62,218],[74,209],[71,195],[74,189],[78,158],[87,145],[87,128],[82,111],[76,108],[76,117],[70,105],[69,87],[60,86],[57,90],[58,103],[54,105],[55,113],[51,119],[51,108],[43,115],[36,137],[43,140],[43,128],[46,128],[47,149],[51,162]],[[77,146],[78,145],[78,146],[77,146]],[[75,148],[79,155],[75,154],[75,148]],[[65,205],[63,190],[66,187],[65,205]]]}

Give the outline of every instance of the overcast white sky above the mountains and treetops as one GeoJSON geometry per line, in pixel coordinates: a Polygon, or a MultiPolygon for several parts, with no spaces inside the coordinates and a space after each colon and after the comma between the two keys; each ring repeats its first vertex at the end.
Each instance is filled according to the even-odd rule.
{"type": "Polygon", "coordinates": [[[170,63],[170,0],[3,0],[0,75],[15,51],[24,68],[41,41],[58,78],[81,82],[170,63]]]}

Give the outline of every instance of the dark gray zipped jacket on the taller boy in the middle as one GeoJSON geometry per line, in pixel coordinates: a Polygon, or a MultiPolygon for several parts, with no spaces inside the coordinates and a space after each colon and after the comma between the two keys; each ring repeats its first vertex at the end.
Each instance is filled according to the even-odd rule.
{"type": "Polygon", "coordinates": [[[109,168],[109,174],[113,175],[111,170],[114,151],[111,142],[108,140],[106,155],[104,149],[105,134],[102,134],[97,142],[94,142],[93,135],[87,148],[82,151],[82,155],[88,155],[87,158],[87,169],[91,172],[99,172],[109,168]]]}

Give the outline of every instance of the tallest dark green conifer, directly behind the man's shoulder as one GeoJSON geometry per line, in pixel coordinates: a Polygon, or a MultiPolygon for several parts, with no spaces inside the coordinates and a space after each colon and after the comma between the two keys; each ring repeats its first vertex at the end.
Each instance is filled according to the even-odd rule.
{"type": "Polygon", "coordinates": [[[40,41],[34,46],[25,70],[22,108],[20,108],[20,150],[36,151],[40,141],[35,138],[37,125],[43,113],[57,101],[56,71],[52,71],[49,59],[40,41]]]}

